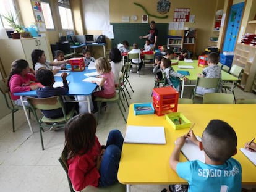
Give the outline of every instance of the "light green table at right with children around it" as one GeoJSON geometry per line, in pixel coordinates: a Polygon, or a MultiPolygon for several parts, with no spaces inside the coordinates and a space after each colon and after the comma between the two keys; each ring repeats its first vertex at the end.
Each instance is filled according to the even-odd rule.
{"type": "MultiPolygon", "coordinates": [[[[186,76],[189,81],[196,81],[197,80],[197,74],[198,73],[202,73],[203,71],[203,67],[198,67],[198,60],[193,60],[193,62],[185,62],[185,61],[179,61],[179,65],[192,65],[194,67],[194,69],[180,69],[178,66],[179,65],[173,65],[173,69],[177,72],[178,70],[186,70],[190,73],[189,76],[186,76]]],[[[224,81],[232,81],[232,86],[231,86],[231,92],[234,88],[234,82],[238,80],[238,78],[234,77],[233,75],[224,72],[224,70],[221,70],[221,80],[224,81]]],[[[183,97],[183,93],[184,93],[184,86],[195,86],[195,84],[186,84],[184,80],[182,80],[182,88],[181,88],[181,98],[183,97]]]]}

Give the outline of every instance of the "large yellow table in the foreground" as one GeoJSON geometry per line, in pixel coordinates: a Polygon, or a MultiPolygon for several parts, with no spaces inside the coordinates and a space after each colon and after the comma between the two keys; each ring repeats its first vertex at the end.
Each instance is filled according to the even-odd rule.
{"type": "MultiPolygon", "coordinates": [[[[164,116],[134,115],[133,104],[130,105],[127,125],[164,126],[166,144],[130,144],[122,146],[118,180],[128,184],[174,184],[187,183],[177,176],[169,166],[169,157],[174,149],[174,141],[189,131],[189,128],[174,130],[164,116]]],[[[256,167],[239,150],[245,142],[251,141],[256,135],[253,120],[256,104],[179,104],[178,112],[195,123],[195,135],[202,136],[203,130],[211,119],[221,119],[234,128],[237,135],[237,154],[234,156],[242,165],[242,183],[256,184],[256,167]]],[[[187,161],[181,154],[180,160],[187,161]]]]}

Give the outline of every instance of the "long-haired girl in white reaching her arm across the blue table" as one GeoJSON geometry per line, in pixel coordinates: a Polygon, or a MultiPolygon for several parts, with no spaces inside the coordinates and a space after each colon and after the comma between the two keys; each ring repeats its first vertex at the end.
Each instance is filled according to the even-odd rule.
{"type": "MultiPolygon", "coordinates": [[[[66,59],[63,61],[58,61],[58,62],[46,61],[47,58],[45,56],[45,51],[40,50],[40,49],[33,50],[31,57],[32,57],[33,68],[34,68],[35,72],[37,72],[40,69],[49,69],[50,70],[51,66],[60,66],[62,64],[69,63],[69,59],[66,59]]],[[[59,69],[53,69],[54,75],[58,72],[59,72],[59,69]]]]}

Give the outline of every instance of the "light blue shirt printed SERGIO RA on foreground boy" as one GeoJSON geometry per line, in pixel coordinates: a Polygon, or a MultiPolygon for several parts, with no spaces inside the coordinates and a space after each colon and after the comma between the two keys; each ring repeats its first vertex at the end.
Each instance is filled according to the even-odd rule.
{"type": "Polygon", "coordinates": [[[242,167],[236,159],[229,158],[223,165],[209,165],[198,160],[179,162],[179,177],[189,183],[189,192],[241,192],[242,167]]]}

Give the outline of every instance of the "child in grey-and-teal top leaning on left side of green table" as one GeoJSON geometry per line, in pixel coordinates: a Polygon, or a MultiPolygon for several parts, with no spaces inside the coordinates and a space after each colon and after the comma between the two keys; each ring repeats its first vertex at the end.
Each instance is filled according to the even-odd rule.
{"type": "Polygon", "coordinates": [[[161,59],[161,63],[158,62],[158,64],[155,66],[153,73],[156,74],[161,71],[163,71],[166,86],[172,86],[177,91],[179,91],[179,78],[183,78],[185,81],[187,81],[187,77],[185,75],[177,73],[173,70],[173,67],[171,67],[171,60],[164,57],[161,59]]]}

